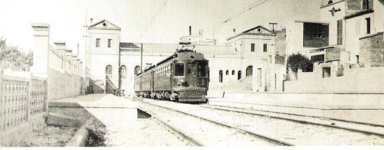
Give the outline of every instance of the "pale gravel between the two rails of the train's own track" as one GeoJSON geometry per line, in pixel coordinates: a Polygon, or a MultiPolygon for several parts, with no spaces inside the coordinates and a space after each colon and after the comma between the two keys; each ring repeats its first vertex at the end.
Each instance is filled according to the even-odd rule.
{"type": "Polygon", "coordinates": [[[147,111],[152,116],[163,120],[174,129],[182,132],[188,137],[191,137],[209,146],[262,146],[276,145],[265,139],[256,138],[252,135],[243,134],[235,129],[229,129],[217,124],[198,119],[189,115],[185,115],[176,111],[156,107],[153,105],[140,103],[139,108],[147,111]]]}

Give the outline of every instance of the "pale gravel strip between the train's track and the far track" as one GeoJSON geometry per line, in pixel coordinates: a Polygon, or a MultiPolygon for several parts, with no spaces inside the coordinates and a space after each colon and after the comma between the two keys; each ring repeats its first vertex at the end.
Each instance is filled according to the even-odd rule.
{"type": "Polygon", "coordinates": [[[198,105],[154,101],[152,99],[144,99],[143,101],[194,114],[295,145],[384,145],[382,136],[372,134],[203,108],[198,105]]]}

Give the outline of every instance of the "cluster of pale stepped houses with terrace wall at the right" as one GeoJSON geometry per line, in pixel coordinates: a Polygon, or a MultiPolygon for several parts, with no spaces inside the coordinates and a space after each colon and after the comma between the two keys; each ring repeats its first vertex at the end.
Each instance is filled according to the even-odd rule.
{"type": "Polygon", "coordinates": [[[310,21],[323,24],[317,32],[305,30],[305,23],[309,21],[295,21],[296,24],[287,32],[287,53],[305,54],[314,63],[313,72],[299,70],[298,81],[285,82],[285,91],[382,92],[383,12],[384,0],[340,0],[320,6],[320,19],[310,21]],[[296,32],[291,33],[293,29],[296,32]],[[328,36],[322,36],[327,43],[307,37],[327,30],[328,36]]]}

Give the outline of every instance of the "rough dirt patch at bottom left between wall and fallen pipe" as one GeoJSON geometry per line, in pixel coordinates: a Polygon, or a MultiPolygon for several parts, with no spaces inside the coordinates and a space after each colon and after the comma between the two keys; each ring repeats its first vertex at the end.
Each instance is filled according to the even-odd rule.
{"type": "Polygon", "coordinates": [[[45,126],[34,130],[32,135],[21,141],[18,146],[65,146],[76,130],[74,127],[45,126]]]}

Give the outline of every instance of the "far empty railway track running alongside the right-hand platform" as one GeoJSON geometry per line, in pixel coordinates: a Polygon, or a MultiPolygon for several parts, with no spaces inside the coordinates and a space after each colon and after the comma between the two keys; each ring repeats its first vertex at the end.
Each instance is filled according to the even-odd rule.
{"type": "MultiPolygon", "coordinates": [[[[376,126],[376,125],[370,125],[370,124],[354,123],[354,122],[339,121],[339,120],[332,120],[331,122],[333,124],[332,123],[327,124],[324,122],[321,123],[321,122],[314,121],[314,120],[320,120],[319,117],[300,116],[300,115],[268,112],[268,111],[253,110],[253,109],[248,110],[245,108],[221,106],[221,105],[211,105],[211,104],[199,105],[199,107],[217,109],[217,110],[221,110],[221,111],[244,113],[244,114],[249,114],[249,115],[267,116],[270,118],[283,119],[283,120],[288,120],[288,121],[314,124],[314,125],[320,125],[320,126],[327,126],[327,127],[337,128],[337,129],[344,129],[344,130],[348,130],[348,131],[360,132],[360,133],[365,133],[365,134],[373,134],[373,135],[378,135],[378,136],[384,137],[384,128],[382,126],[376,126]],[[294,118],[289,117],[289,116],[298,116],[298,117],[302,117],[304,119],[298,119],[297,117],[296,117],[296,119],[294,119],[294,118]],[[307,120],[305,120],[305,118],[307,118],[307,120]],[[340,123],[343,123],[343,125],[339,125],[340,123]],[[363,128],[365,128],[365,130],[363,128]],[[368,130],[366,128],[368,128],[368,130]]],[[[324,120],[326,120],[326,119],[324,119],[324,120]]],[[[329,120],[331,120],[331,119],[329,119],[329,120]]]]}

